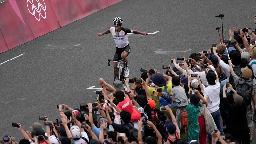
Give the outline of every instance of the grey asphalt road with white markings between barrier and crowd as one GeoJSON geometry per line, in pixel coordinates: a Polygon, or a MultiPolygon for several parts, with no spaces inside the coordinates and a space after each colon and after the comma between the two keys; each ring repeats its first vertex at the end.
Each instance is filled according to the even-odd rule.
{"type": "Polygon", "coordinates": [[[39,116],[60,118],[57,104],[78,108],[79,103],[96,101],[95,89],[87,88],[100,87],[99,77],[112,84],[113,67],[107,66],[107,60],[115,52],[110,34],[96,34],[112,27],[116,16],[123,18],[123,27],[159,31],[128,36],[130,77],[139,77],[140,68],[162,71],[162,65],[170,64],[170,59],[188,57],[218,43],[215,27],[221,27],[221,20],[215,15],[224,14],[227,39],[228,28],[233,26],[254,29],[255,14],[247,5],[253,2],[124,0],[0,54],[2,63],[25,53],[0,65],[0,137],[22,138],[12,122],[28,129],[39,116]]]}

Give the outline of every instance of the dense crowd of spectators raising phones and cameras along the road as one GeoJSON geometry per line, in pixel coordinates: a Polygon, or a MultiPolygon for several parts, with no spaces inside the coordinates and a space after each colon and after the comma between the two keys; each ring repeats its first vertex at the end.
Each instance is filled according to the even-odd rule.
{"type": "MultiPolygon", "coordinates": [[[[256,17],[254,18],[256,24],[256,17]]],[[[256,109],[256,32],[229,29],[229,40],[189,58],[170,60],[165,72],[146,70],[140,78],[108,84],[99,78],[96,103],[70,108],[46,130],[13,123],[19,144],[249,144],[256,109]],[[178,62],[177,62],[178,61],[178,62]]],[[[5,136],[3,144],[17,144],[5,136]]]]}

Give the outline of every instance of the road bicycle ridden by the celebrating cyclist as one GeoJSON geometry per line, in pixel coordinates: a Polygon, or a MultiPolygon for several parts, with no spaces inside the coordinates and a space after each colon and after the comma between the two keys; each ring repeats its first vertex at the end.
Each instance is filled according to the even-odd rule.
{"type": "Polygon", "coordinates": [[[126,60],[109,60],[108,59],[108,66],[110,66],[109,62],[110,61],[117,61],[117,67],[115,69],[115,74],[114,74],[114,81],[115,80],[120,80],[124,84],[124,79],[127,77],[124,77],[125,75],[125,66],[126,66],[126,60]]]}

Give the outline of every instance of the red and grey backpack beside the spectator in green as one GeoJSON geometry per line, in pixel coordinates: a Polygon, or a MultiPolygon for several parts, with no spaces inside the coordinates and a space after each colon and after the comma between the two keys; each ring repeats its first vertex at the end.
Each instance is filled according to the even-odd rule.
{"type": "Polygon", "coordinates": [[[188,113],[185,108],[177,109],[176,121],[180,131],[186,132],[188,130],[188,113]]]}

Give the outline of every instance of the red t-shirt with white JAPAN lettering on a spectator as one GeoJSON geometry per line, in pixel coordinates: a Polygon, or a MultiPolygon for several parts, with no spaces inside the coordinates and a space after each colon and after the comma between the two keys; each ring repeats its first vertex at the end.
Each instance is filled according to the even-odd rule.
{"type": "Polygon", "coordinates": [[[131,121],[137,122],[141,118],[140,112],[133,108],[131,100],[127,97],[117,105],[121,111],[125,110],[131,114],[131,121]]]}

